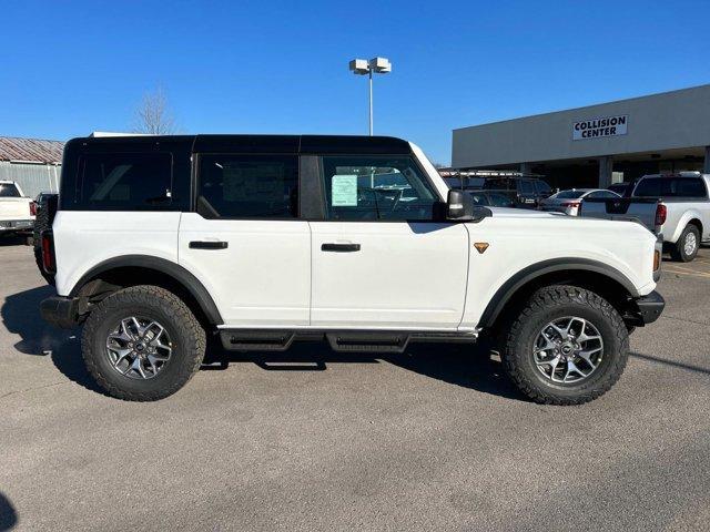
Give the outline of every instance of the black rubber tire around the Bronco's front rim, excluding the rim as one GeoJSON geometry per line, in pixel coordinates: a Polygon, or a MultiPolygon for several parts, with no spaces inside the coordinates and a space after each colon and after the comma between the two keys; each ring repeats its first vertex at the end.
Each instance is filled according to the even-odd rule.
{"type": "Polygon", "coordinates": [[[500,338],[500,358],[518,389],[544,405],[581,405],[607,392],[623,372],[629,351],[627,327],[619,313],[594,291],[555,285],[537,290],[508,315],[500,338]],[[602,337],[599,367],[579,383],[556,383],[537,369],[532,357],[537,335],[546,324],[567,316],[591,323],[602,337]]]}

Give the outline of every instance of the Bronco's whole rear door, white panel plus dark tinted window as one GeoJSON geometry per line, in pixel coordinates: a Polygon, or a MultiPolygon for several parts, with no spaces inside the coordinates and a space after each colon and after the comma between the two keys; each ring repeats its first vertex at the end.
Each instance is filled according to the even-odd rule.
{"type": "Polygon", "coordinates": [[[196,154],[196,212],[180,224],[180,264],[229,327],[308,325],[311,234],[298,218],[296,154],[196,154]]]}

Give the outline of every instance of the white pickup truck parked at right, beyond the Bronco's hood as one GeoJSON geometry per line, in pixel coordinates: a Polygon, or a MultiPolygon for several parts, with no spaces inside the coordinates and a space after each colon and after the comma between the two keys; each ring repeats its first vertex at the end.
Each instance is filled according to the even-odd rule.
{"type": "Polygon", "coordinates": [[[631,197],[586,200],[581,216],[637,219],[662,235],[676,260],[689,263],[701,242],[710,242],[710,175],[700,172],[645,175],[631,197]]]}

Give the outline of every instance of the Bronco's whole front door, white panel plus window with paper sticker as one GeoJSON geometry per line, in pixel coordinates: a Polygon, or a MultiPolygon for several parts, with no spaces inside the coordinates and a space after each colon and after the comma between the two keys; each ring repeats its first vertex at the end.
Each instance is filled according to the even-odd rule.
{"type": "Polygon", "coordinates": [[[435,187],[412,156],[322,157],[325,221],[311,222],[311,324],[455,329],[468,231],[437,221],[435,187]]]}

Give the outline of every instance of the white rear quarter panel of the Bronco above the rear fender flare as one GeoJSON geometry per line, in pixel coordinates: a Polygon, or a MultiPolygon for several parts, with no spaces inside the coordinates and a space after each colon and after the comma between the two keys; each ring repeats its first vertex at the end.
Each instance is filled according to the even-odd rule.
{"type": "Polygon", "coordinates": [[[145,255],[178,262],[180,213],[59,211],[52,225],[57,293],[67,296],[91,268],[110,258],[145,255]]]}

